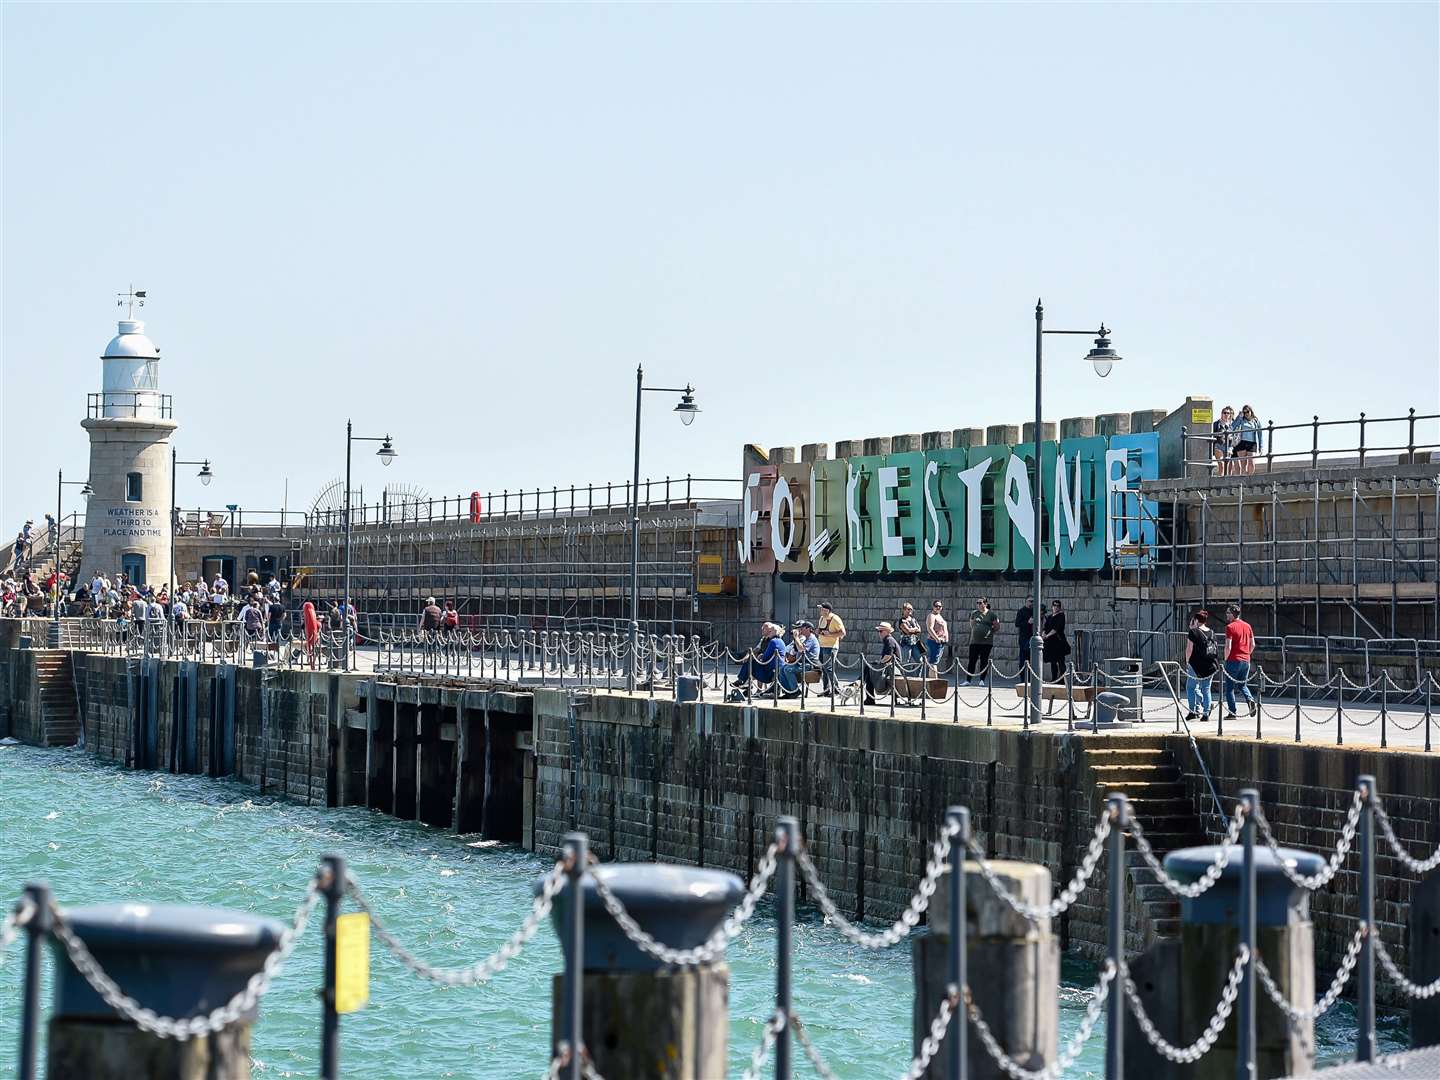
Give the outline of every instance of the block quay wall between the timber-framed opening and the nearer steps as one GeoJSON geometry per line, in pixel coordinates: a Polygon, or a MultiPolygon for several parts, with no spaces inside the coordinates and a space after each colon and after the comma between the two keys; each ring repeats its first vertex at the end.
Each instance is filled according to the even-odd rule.
{"type": "MultiPolygon", "coordinates": [[[[536,690],[534,847],[588,832],[605,860],[660,860],[749,877],[791,814],[831,897],[891,920],[910,900],[945,808],[971,808],[978,841],[1067,880],[1103,795],[1084,749],[1161,737],[1025,736],[887,717],[685,704],[536,690]]],[[[1060,920],[1063,940],[1103,948],[1104,873],[1060,920]]],[[[1136,945],[1143,940],[1132,926],[1136,945]]]]}

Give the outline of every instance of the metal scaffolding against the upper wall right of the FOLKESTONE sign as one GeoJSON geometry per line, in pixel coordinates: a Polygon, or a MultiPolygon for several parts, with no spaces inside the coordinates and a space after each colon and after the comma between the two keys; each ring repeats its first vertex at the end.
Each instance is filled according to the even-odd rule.
{"type": "Polygon", "coordinates": [[[1145,495],[1119,517],[1155,543],[1112,563],[1138,631],[1240,603],[1269,636],[1440,638],[1434,467],[1149,481],[1145,495]]]}

